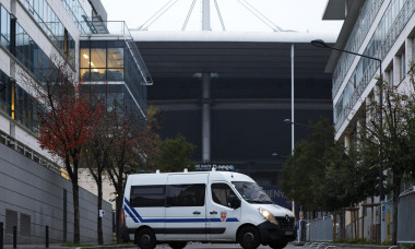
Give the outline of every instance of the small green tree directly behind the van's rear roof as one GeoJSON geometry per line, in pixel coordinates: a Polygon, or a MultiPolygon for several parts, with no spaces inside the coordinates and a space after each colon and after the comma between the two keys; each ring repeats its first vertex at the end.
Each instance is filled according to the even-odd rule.
{"type": "Polygon", "coordinates": [[[182,171],[183,168],[194,170],[194,162],[190,161],[195,146],[186,141],[181,134],[175,139],[166,139],[161,144],[157,167],[162,171],[182,171]]]}

